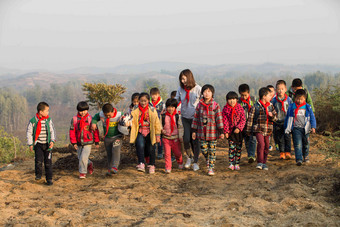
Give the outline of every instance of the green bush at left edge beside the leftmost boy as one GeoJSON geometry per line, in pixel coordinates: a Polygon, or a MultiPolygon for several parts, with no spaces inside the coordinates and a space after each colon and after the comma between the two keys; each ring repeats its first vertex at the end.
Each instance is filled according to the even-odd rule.
{"type": "Polygon", "coordinates": [[[33,156],[33,152],[30,152],[27,146],[23,146],[17,137],[8,134],[3,128],[0,128],[0,163],[8,163],[15,158],[20,159],[30,156],[33,156]]]}

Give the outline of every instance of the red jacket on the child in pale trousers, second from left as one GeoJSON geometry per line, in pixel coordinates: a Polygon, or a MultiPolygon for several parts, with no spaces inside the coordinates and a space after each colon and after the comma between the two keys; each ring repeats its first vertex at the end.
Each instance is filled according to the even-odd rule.
{"type": "Polygon", "coordinates": [[[96,129],[92,131],[91,122],[92,117],[87,114],[83,128],[80,126],[81,117],[77,114],[72,118],[70,127],[70,142],[80,146],[99,143],[99,131],[96,129]]]}

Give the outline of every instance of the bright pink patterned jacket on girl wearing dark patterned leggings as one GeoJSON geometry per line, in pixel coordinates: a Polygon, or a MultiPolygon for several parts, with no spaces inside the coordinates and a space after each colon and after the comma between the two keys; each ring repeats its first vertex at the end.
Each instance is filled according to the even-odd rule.
{"type": "Polygon", "coordinates": [[[243,107],[239,103],[236,103],[235,106],[233,122],[231,120],[231,115],[232,109],[228,105],[225,105],[222,111],[224,133],[231,133],[235,128],[238,128],[240,131],[242,131],[246,125],[246,117],[244,115],[243,107]]]}

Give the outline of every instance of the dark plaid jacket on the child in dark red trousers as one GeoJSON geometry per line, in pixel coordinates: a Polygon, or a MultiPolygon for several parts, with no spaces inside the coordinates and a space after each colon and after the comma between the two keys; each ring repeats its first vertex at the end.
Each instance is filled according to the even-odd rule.
{"type": "Polygon", "coordinates": [[[257,101],[254,106],[250,109],[248,120],[247,120],[247,133],[261,133],[263,136],[270,136],[273,132],[273,122],[276,121],[277,113],[273,104],[270,103],[268,106],[268,112],[273,113],[273,117],[268,118],[268,125],[267,125],[267,115],[266,110],[261,105],[259,101],[257,101]],[[256,113],[257,112],[257,113],[256,113]],[[257,115],[257,116],[255,116],[257,115]],[[255,119],[254,122],[254,118],[255,119]]]}

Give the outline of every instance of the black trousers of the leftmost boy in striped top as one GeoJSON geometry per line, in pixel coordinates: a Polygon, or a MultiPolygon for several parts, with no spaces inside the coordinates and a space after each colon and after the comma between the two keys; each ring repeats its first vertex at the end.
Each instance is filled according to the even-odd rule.
{"type": "Polygon", "coordinates": [[[52,180],[52,151],[48,150],[49,145],[47,143],[37,143],[34,146],[34,158],[35,158],[35,177],[41,178],[43,174],[42,164],[45,166],[46,180],[52,180]]]}

